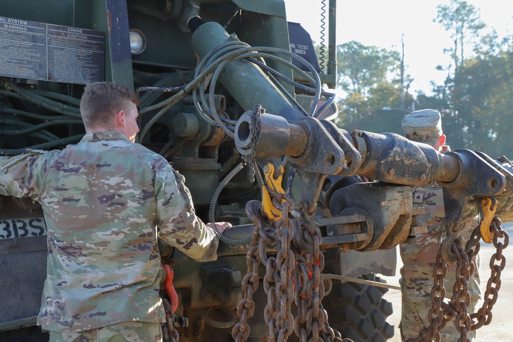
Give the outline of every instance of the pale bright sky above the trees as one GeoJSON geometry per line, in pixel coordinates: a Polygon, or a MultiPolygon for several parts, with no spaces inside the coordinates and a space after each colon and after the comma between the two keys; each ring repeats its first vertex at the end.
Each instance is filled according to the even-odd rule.
{"type": "MultiPolygon", "coordinates": [[[[479,9],[482,21],[499,36],[513,34],[513,1],[466,1],[479,9]]],[[[441,83],[446,76],[436,67],[448,64],[450,58],[443,49],[453,45],[441,24],[433,23],[437,5],[448,4],[449,0],[338,0],[337,45],[354,40],[401,52],[404,34],[406,72],[414,78],[410,93],[415,96],[421,90],[429,94],[429,82],[441,83]]],[[[287,20],[300,23],[313,41],[320,43],[321,0],[285,0],[285,7],[287,20]]],[[[327,34],[328,23],[325,27],[327,34]]],[[[327,44],[327,36],[325,39],[327,44]]]]}

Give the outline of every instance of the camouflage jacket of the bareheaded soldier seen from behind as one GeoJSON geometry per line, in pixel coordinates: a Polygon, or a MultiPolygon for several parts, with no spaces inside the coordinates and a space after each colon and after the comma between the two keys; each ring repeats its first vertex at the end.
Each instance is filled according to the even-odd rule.
{"type": "Polygon", "coordinates": [[[183,177],[121,133],[2,157],[0,171],[0,194],[43,207],[48,268],[38,325],[46,330],[164,321],[157,234],[195,260],[217,257],[219,241],[195,216],[183,177]]]}

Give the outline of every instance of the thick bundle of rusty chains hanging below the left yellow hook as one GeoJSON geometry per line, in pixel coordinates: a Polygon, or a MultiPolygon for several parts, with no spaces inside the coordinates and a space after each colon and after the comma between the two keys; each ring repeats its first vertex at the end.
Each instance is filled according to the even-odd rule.
{"type": "Polygon", "coordinates": [[[277,191],[269,190],[269,194],[272,205],[282,211],[278,222],[269,224],[271,220],[262,214],[261,202],[253,200],[246,206],[246,212],[257,229],[253,232],[246,255],[248,273],[243,279],[244,297],[237,307],[241,320],[233,327],[232,337],[240,342],[249,336],[247,319],[253,314],[252,294],[258,287],[258,265],[263,264],[266,266],[264,291],[268,298],[264,319],[269,329],[261,341],[286,341],[295,332],[302,342],[351,342],[350,339],[342,339],[340,333],[328,325],[327,313],[321,303],[324,296],[324,284],[320,280],[324,255],[320,250],[322,237],[319,228],[311,217],[304,218],[300,231],[312,249],[306,252],[295,246],[292,243],[293,223],[289,218],[294,201],[277,191]],[[267,256],[266,245],[277,247],[276,257],[267,256]],[[295,317],[292,301],[297,307],[295,317]]]}

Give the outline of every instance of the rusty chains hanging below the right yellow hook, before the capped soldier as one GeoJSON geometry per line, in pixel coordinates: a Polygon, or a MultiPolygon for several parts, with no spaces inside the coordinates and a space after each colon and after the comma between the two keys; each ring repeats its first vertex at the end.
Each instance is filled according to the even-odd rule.
{"type": "Polygon", "coordinates": [[[494,232],[494,246],[497,249],[497,252],[492,255],[490,259],[491,275],[486,285],[482,308],[476,313],[468,314],[467,312],[467,307],[470,303],[468,279],[476,267],[473,259],[479,253],[480,244],[478,243],[475,246],[475,250],[472,250],[469,245],[471,243],[469,240],[465,248],[463,248],[463,243],[460,237],[457,238],[451,246],[452,252],[455,253],[457,257],[457,267],[456,283],[453,286],[452,297],[449,304],[443,303],[445,296],[444,278],[447,275],[447,265],[439,251],[437,255],[437,263],[433,268],[435,286],[433,286],[431,290],[433,306],[428,313],[430,326],[422,329],[418,337],[407,339],[407,342],[439,342],[441,338],[440,331],[453,317],[456,317],[455,326],[460,332],[458,342],[466,342],[467,333],[469,331],[477,330],[483,325],[491,323],[491,309],[497,302],[499,289],[501,287],[501,271],[506,265],[506,258],[502,255],[502,250],[507,247],[509,236],[504,230],[502,230],[501,220],[498,217],[495,217],[492,220],[490,229],[494,232]],[[468,250],[468,253],[465,252],[466,250],[468,250]]]}

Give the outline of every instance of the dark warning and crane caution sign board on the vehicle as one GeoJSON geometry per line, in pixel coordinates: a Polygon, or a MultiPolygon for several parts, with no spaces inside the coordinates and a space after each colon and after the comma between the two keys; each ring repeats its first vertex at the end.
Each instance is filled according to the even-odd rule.
{"type": "Polygon", "coordinates": [[[0,76],[88,84],[105,79],[105,33],[0,16],[0,76]]]}

